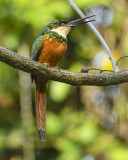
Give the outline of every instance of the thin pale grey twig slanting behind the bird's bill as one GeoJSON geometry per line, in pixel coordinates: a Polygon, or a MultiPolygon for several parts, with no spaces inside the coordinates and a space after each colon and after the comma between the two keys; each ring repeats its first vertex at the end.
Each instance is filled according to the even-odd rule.
{"type": "MultiPolygon", "coordinates": [[[[83,12],[78,8],[78,6],[74,3],[73,0],[69,0],[69,3],[70,3],[70,5],[75,9],[75,11],[76,11],[82,18],[86,17],[86,16],[84,15],[84,13],[83,13],[83,12]]],[[[97,38],[100,40],[100,42],[101,42],[101,44],[103,45],[103,47],[105,48],[106,52],[108,53],[109,59],[110,59],[110,61],[111,61],[111,63],[112,63],[112,66],[113,66],[115,72],[119,71],[119,68],[118,68],[118,66],[116,65],[116,61],[115,61],[115,59],[114,59],[114,57],[113,57],[113,55],[112,55],[112,53],[111,53],[111,51],[110,51],[107,43],[105,42],[105,40],[104,40],[103,37],[101,36],[101,34],[98,32],[98,30],[94,27],[94,25],[93,25],[91,22],[87,23],[87,25],[92,29],[92,31],[95,33],[95,35],[96,35],[97,38]]]]}

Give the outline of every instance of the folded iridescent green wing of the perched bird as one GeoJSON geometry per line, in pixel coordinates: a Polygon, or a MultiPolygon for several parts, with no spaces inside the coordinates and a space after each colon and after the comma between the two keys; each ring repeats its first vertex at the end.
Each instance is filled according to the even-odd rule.
{"type": "Polygon", "coordinates": [[[32,51],[31,51],[31,59],[38,61],[38,58],[40,56],[40,52],[43,48],[43,37],[44,35],[40,35],[33,43],[32,45],[32,51]]]}

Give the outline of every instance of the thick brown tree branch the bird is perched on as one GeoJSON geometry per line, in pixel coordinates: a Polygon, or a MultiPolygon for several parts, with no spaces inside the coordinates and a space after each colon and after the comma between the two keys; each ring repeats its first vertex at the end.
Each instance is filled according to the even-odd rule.
{"type": "Polygon", "coordinates": [[[113,73],[75,73],[49,67],[0,47],[0,61],[31,74],[71,85],[108,86],[128,82],[128,71],[113,73]]]}

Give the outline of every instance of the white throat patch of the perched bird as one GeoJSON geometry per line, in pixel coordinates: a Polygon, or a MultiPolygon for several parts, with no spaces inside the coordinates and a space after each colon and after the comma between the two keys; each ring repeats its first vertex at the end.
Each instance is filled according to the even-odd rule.
{"type": "Polygon", "coordinates": [[[51,29],[51,31],[58,33],[60,36],[63,36],[64,38],[67,38],[67,34],[70,32],[70,30],[71,27],[58,27],[51,29]]]}

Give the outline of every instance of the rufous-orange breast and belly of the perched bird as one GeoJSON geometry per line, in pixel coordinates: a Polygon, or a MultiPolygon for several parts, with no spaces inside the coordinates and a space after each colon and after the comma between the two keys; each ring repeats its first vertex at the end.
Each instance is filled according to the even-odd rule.
{"type": "Polygon", "coordinates": [[[66,49],[67,45],[63,42],[59,42],[58,40],[54,39],[45,39],[43,41],[43,49],[38,61],[55,67],[66,52],[66,49]]]}

